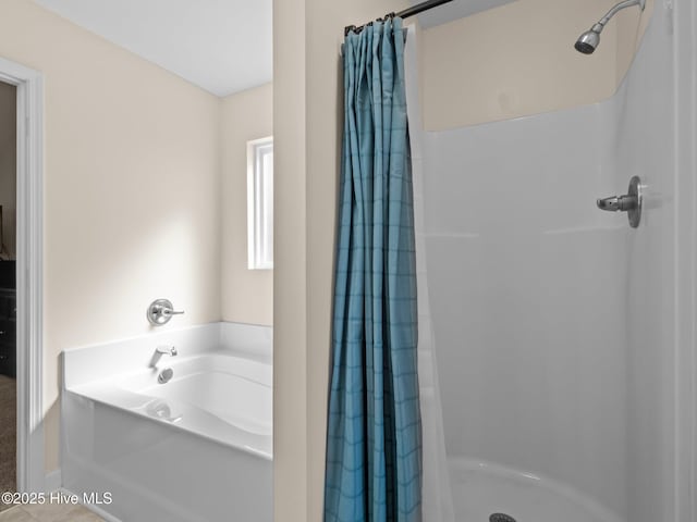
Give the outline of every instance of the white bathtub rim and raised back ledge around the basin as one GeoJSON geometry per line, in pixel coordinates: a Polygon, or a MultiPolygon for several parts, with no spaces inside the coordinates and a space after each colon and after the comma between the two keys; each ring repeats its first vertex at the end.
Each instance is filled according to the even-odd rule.
{"type": "MultiPolygon", "coordinates": [[[[242,323],[213,322],[172,328],[164,332],[154,332],[124,339],[99,343],[94,345],[68,348],[61,352],[61,401],[76,397],[94,403],[129,412],[132,415],[154,422],[173,426],[206,440],[215,442],[228,448],[234,448],[264,460],[273,460],[273,419],[271,412],[271,433],[258,434],[246,432],[192,405],[176,401],[174,406],[188,410],[188,419],[215,418],[211,435],[201,426],[195,427],[187,422],[172,423],[127,407],[138,401],[144,405],[159,397],[138,395],[119,388],[119,382],[136,374],[144,374],[152,370],[152,353],[161,344],[172,344],[179,350],[179,356],[172,360],[172,365],[185,364],[189,359],[201,357],[224,357],[262,366],[261,372],[268,373],[268,378],[257,382],[268,386],[273,393],[272,364],[272,327],[247,325],[242,323]],[[70,397],[72,394],[75,397],[70,397]],[[221,435],[222,434],[222,435],[221,435]],[[239,437],[236,435],[240,435],[239,437]]],[[[166,361],[169,362],[169,361],[166,361]]],[[[162,368],[160,361],[157,368],[162,368]]],[[[244,374],[239,374],[245,377],[244,374]]],[[[208,424],[206,427],[210,427],[208,424]]]]}

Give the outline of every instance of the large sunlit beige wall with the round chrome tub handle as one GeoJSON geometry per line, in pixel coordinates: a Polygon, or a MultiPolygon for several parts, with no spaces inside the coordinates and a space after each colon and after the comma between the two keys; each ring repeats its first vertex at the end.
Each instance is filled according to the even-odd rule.
{"type": "Polygon", "coordinates": [[[0,3],[0,55],[45,77],[46,468],[59,353],[220,320],[220,100],[28,0],[0,3]]]}

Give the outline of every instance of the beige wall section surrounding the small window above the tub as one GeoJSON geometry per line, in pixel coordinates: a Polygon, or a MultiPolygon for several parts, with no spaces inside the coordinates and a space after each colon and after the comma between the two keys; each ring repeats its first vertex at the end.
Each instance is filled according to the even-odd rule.
{"type": "Polygon", "coordinates": [[[247,269],[247,141],[273,134],[273,85],[222,103],[222,319],[273,324],[273,271],[247,269]]]}

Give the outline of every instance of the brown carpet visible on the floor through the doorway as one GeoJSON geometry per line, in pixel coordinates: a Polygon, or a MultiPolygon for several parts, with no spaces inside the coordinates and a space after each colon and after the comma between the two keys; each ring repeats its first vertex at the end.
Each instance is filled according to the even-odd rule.
{"type": "Polygon", "coordinates": [[[0,493],[16,489],[16,381],[0,375],[0,493]]]}

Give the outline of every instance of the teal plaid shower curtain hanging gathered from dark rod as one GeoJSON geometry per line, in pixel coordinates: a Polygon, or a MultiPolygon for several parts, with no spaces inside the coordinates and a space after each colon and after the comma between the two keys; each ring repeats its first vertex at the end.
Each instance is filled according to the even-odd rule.
{"type": "Polygon", "coordinates": [[[344,42],[326,522],[418,522],[416,259],[400,18],[344,42]]]}

